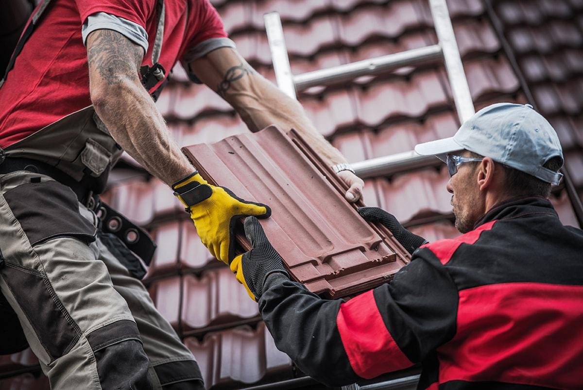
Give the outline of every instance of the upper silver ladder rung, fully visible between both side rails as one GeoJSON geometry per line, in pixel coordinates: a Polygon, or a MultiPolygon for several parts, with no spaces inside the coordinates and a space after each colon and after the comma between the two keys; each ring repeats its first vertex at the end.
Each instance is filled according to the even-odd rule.
{"type": "Polygon", "coordinates": [[[296,90],[300,91],[313,86],[321,86],[336,81],[354,79],[359,76],[375,75],[387,70],[416,65],[417,63],[427,62],[434,59],[442,59],[440,45],[411,49],[377,58],[334,66],[333,68],[302,73],[301,75],[293,76],[293,82],[296,86],[296,90]]]}

